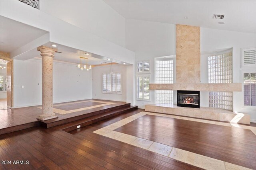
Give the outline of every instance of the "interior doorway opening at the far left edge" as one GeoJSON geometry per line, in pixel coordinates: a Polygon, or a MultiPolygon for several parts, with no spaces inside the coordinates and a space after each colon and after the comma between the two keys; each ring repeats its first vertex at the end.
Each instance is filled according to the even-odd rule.
{"type": "Polygon", "coordinates": [[[11,62],[0,59],[0,110],[12,107],[11,98],[11,62]]]}

